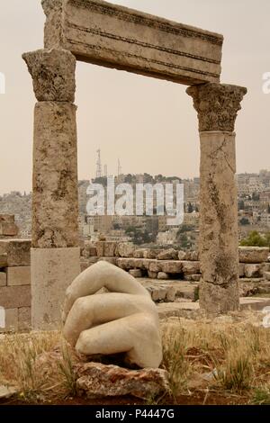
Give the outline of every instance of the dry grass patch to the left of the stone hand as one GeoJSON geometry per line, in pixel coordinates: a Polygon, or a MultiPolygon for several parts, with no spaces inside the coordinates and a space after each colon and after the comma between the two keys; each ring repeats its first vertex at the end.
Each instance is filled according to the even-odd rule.
{"type": "Polygon", "coordinates": [[[31,402],[75,395],[76,360],[58,331],[5,336],[0,342],[0,384],[15,386],[31,402]]]}

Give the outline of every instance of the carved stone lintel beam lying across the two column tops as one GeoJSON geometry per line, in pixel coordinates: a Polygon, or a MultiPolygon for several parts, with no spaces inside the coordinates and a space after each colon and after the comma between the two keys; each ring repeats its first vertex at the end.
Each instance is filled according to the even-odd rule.
{"type": "Polygon", "coordinates": [[[192,85],[219,82],[223,37],[101,0],[42,0],[45,48],[192,85]]]}

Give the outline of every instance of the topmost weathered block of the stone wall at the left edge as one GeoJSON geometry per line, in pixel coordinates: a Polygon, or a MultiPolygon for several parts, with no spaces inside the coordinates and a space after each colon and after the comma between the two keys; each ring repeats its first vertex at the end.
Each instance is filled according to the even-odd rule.
{"type": "Polygon", "coordinates": [[[0,239],[0,267],[30,266],[30,239],[0,239]]]}

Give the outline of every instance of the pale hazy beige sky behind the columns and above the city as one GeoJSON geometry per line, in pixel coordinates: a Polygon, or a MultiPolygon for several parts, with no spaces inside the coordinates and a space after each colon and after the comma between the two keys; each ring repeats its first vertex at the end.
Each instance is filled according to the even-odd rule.
{"type": "MultiPolygon", "coordinates": [[[[270,94],[262,76],[270,72],[269,0],[115,0],[224,35],[221,82],[244,85],[248,94],[237,121],[239,172],[270,168],[270,94]]],[[[42,48],[45,17],[40,0],[0,5],[0,194],[31,190],[31,76],[21,58],[42,48]]],[[[77,63],[78,174],[94,176],[96,149],[117,173],[199,175],[199,139],[192,99],[185,86],[77,63]]]]}

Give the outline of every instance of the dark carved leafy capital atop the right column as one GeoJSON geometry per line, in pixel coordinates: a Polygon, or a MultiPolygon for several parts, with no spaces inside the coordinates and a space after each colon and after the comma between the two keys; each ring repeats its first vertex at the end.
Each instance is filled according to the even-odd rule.
{"type": "Polygon", "coordinates": [[[186,93],[193,97],[200,132],[211,130],[232,132],[247,88],[208,83],[189,86],[186,93]]]}

